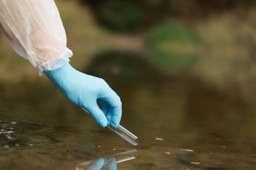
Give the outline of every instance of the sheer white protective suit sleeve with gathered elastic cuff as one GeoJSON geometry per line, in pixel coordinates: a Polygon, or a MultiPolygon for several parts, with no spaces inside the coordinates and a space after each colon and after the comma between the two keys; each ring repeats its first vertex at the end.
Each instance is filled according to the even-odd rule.
{"type": "Polygon", "coordinates": [[[70,61],[66,33],[54,0],[0,0],[0,28],[12,48],[39,75],[70,61]]]}

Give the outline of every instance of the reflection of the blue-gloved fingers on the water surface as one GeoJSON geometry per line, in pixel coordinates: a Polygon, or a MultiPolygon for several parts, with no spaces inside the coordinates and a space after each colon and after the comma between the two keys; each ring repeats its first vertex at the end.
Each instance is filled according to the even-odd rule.
{"type": "Polygon", "coordinates": [[[89,170],[100,170],[100,169],[110,169],[110,170],[116,170],[116,158],[110,157],[110,158],[98,158],[98,160],[93,161],[91,163],[90,167],[88,167],[89,170]]]}

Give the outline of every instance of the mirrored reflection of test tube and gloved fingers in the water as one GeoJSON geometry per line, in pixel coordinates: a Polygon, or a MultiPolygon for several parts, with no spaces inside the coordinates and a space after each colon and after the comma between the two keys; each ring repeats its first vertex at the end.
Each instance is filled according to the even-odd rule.
{"type": "Polygon", "coordinates": [[[76,166],[77,170],[83,169],[117,169],[117,163],[123,161],[129,161],[137,158],[138,152],[136,149],[129,150],[127,152],[121,152],[119,154],[114,154],[112,156],[100,157],[96,160],[87,161],[85,163],[79,163],[76,166]]]}

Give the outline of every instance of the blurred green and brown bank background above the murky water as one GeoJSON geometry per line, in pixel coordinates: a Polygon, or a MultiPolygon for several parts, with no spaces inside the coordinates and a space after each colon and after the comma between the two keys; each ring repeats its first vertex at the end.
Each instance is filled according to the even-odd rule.
{"type": "MultiPolygon", "coordinates": [[[[140,67],[147,65],[154,76],[193,75],[220,86],[230,81],[243,84],[255,76],[253,0],[58,0],[56,4],[74,52],[71,63],[82,71],[148,76],[140,67]],[[110,58],[102,61],[104,56],[110,58]]],[[[0,80],[37,78],[2,34],[0,44],[0,80]]]]}

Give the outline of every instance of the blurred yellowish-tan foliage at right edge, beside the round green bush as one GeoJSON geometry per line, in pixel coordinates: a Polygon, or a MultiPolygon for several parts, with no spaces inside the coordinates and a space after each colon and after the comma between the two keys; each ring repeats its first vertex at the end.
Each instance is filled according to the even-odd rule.
{"type": "Polygon", "coordinates": [[[256,10],[234,10],[198,21],[200,62],[194,73],[206,81],[247,84],[256,75],[256,10]]]}

